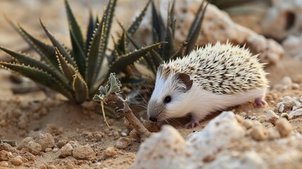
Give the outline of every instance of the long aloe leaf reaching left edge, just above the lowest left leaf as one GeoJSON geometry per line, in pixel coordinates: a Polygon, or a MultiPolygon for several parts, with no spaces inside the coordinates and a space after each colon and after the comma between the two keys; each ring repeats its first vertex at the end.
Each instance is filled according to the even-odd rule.
{"type": "Polygon", "coordinates": [[[61,82],[66,89],[70,89],[70,88],[68,88],[69,87],[68,80],[66,79],[66,77],[63,76],[60,72],[49,67],[49,65],[46,65],[45,63],[42,63],[41,61],[37,61],[34,58],[30,58],[30,56],[25,56],[24,54],[20,54],[15,51],[6,49],[2,46],[0,46],[0,49],[2,51],[6,52],[6,54],[8,54],[9,56],[13,57],[13,59],[20,64],[30,65],[31,67],[36,67],[41,70],[44,70],[46,73],[49,73],[54,78],[56,78],[59,82],[61,82]]]}

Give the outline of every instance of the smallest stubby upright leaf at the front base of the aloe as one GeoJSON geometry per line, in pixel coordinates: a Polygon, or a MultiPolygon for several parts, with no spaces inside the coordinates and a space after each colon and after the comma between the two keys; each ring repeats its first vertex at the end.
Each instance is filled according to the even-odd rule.
{"type": "Polygon", "coordinates": [[[88,87],[80,73],[73,75],[73,89],[75,90],[75,99],[82,103],[88,98],[88,87]]]}

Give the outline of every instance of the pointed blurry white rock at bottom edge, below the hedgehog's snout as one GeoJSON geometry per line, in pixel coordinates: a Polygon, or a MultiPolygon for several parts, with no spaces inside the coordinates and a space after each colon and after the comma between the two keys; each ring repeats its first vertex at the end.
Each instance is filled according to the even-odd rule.
{"type": "Polygon", "coordinates": [[[133,168],[190,168],[185,158],[189,153],[186,147],[180,133],[170,125],[164,125],[161,132],[141,144],[133,168]]]}

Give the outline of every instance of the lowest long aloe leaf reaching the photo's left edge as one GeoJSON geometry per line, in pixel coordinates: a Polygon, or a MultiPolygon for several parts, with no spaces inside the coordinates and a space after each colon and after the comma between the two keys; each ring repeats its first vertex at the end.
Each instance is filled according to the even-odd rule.
{"type": "Polygon", "coordinates": [[[16,73],[20,73],[25,77],[34,80],[34,82],[38,82],[39,84],[43,84],[50,89],[55,90],[66,96],[68,99],[73,100],[72,94],[68,92],[63,85],[58,82],[54,77],[52,77],[49,73],[44,72],[38,68],[33,68],[30,65],[20,65],[18,63],[5,63],[0,62],[4,68],[8,68],[9,70],[13,70],[16,73]]]}

